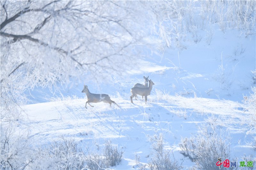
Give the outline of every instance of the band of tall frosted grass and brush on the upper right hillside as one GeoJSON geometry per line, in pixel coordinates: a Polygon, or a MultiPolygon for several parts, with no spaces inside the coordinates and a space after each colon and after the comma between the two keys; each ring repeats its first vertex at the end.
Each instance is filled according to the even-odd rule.
{"type": "Polygon", "coordinates": [[[173,46],[185,49],[183,41],[198,43],[203,37],[210,44],[215,26],[223,32],[236,28],[241,35],[255,34],[255,1],[164,1],[154,5],[161,9],[157,15],[160,20],[151,22],[158,28],[155,33],[162,52],[173,46]]]}

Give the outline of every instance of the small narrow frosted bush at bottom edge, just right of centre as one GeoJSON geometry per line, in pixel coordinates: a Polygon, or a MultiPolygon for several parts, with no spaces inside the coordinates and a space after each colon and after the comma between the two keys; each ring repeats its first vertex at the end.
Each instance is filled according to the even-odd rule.
{"type": "Polygon", "coordinates": [[[153,149],[153,157],[148,163],[150,169],[181,169],[182,166],[173,158],[170,158],[170,151],[164,150],[163,134],[154,135],[149,137],[153,149]]]}

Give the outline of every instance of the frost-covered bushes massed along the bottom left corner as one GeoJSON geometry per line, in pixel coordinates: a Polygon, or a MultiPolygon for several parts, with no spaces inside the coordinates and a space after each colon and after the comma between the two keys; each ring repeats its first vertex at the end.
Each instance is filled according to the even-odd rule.
{"type": "Polygon", "coordinates": [[[13,140],[13,132],[8,129],[1,138],[0,169],[106,169],[118,165],[124,153],[110,141],[101,155],[85,153],[78,143],[64,137],[38,148],[24,138],[13,140]]]}

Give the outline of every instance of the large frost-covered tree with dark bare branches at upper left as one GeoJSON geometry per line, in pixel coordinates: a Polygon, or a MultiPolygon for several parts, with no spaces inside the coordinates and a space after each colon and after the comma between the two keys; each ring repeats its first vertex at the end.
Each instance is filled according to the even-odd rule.
{"type": "Polygon", "coordinates": [[[70,77],[99,82],[131,69],[148,30],[140,8],[125,1],[1,1],[1,106],[20,104],[35,86],[70,77]]]}

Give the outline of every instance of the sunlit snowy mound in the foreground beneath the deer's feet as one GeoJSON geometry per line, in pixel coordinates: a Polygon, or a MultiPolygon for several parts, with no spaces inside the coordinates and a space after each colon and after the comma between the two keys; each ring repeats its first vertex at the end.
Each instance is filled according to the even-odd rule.
{"type": "Polygon", "coordinates": [[[164,134],[165,148],[173,152],[175,159],[185,159],[183,166],[189,168],[192,162],[180,154],[180,140],[196,135],[198,127],[205,123],[230,132],[232,158],[244,153],[255,154],[248,145],[255,132],[246,134],[248,129],[241,126],[249,117],[241,109],[243,104],[163,94],[150,96],[148,104],[138,100],[133,105],[120,96],[112,100],[118,101],[121,108],[98,103],[85,109],[84,99],[26,105],[22,108],[27,112],[28,121],[23,123],[30,126],[29,137],[41,144],[59,141],[63,135],[80,141],[84,149],[97,151],[96,145],[102,148],[105,140],[111,139],[124,151],[123,161],[114,169],[136,167],[135,153],[140,156],[140,162],[146,164],[152,156],[148,136],[156,133],[164,134]]]}

